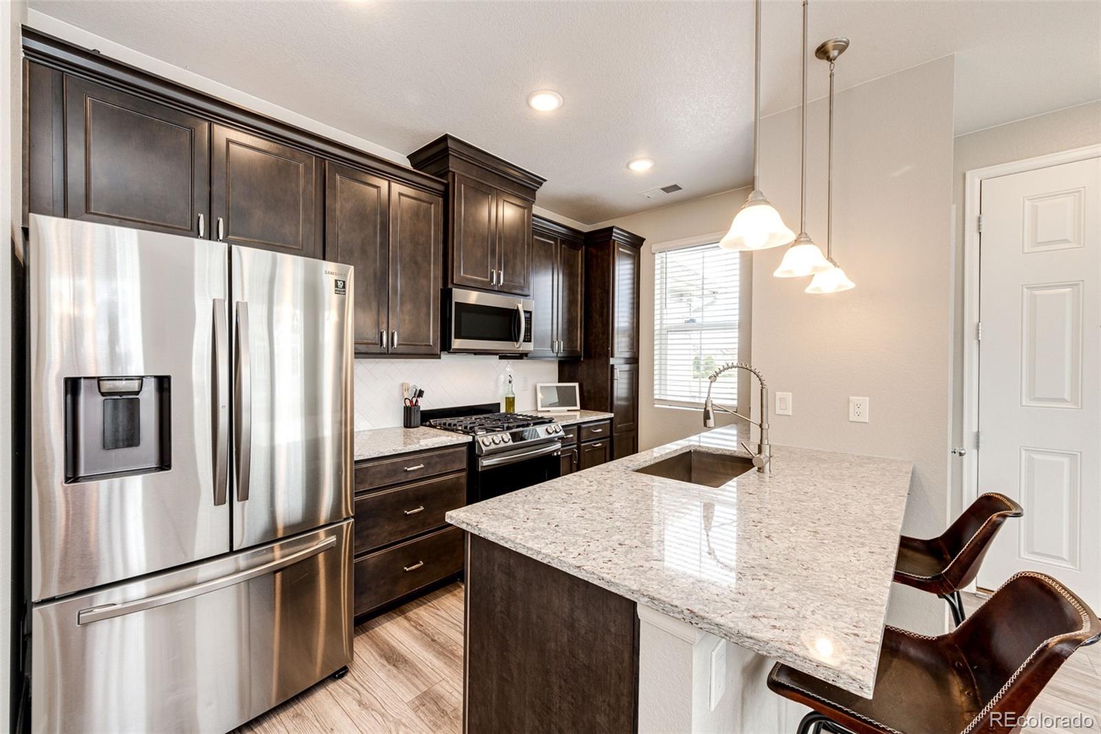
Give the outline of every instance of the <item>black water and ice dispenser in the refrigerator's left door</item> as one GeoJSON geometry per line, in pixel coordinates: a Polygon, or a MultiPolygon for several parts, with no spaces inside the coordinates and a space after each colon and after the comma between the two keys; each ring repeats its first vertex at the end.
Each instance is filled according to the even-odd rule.
{"type": "Polygon", "coordinates": [[[65,378],[65,481],[172,467],[172,378],[65,378]]]}

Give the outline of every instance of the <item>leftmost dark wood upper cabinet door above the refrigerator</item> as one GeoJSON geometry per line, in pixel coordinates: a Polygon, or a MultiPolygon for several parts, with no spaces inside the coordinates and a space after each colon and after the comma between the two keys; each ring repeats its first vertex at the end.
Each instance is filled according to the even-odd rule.
{"type": "Polygon", "coordinates": [[[65,110],[69,218],[198,235],[210,202],[206,120],[70,76],[65,110]]]}

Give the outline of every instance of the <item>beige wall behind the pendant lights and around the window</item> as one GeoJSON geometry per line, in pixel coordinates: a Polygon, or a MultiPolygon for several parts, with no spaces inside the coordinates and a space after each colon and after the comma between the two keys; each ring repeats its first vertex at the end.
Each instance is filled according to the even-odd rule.
{"type": "MultiPolygon", "coordinates": [[[[945,57],[837,96],[835,257],[854,290],[807,295],[805,279],[772,277],[781,250],[753,256],[752,360],[773,390],[793,393],[794,414],[773,418],[773,440],[913,461],[904,532],[916,536],[939,533],[947,519],[952,71],[953,60],[945,57]],[[848,421],[849,396],[870,398],[870,423],[848,421]]],[[[826,100],[811,102],[808,115],[807,230],[825,248],[826,100]]],[[[761,143],[762,188],[797,228],[798,109],[765,118],[761,143]]],[[[744,196],[728,192],[601,226],[615,224],[652,242],[719,231],[744,196]]],[[[650,388],[651,255],[643,259],[642,279],[640,381],[650,388]]],[[[699,430],[698,413],[667,419],[673,411],[654,409],[652,396],[640,400],[640,443],[699,430]]],[[[869,497],[869,510],[874,507],[869,497]]],[[[893,604],[895,622],[940,629],[938,600],[896,591],[905,603],[893,604]]]]}

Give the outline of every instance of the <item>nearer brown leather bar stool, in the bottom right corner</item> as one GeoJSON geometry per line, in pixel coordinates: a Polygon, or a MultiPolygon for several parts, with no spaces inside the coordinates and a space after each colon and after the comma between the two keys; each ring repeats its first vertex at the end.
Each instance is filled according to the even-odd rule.
{"type": "Polygon", "coordinates": [[[1101,622],[1082,600],[1022,571],[947,635],[886,627],[871,699],[781,663],[768,688],[813,709],[799,734],[1011,732],[1070,654],[1099,637],[1101,622]]]}

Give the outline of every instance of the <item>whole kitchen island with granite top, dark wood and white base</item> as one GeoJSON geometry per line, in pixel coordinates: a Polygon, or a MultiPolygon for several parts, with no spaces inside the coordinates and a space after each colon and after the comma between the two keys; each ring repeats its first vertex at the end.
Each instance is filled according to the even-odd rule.
{"type": "Polygon", "coordinates": [[[448,512],[468,731],[789,728],[773,660],[872,694],[912,466],[774,446],[771,474],[701,473],[719,486],[637,471],[744,460],[746,429],[448,512]]]}

